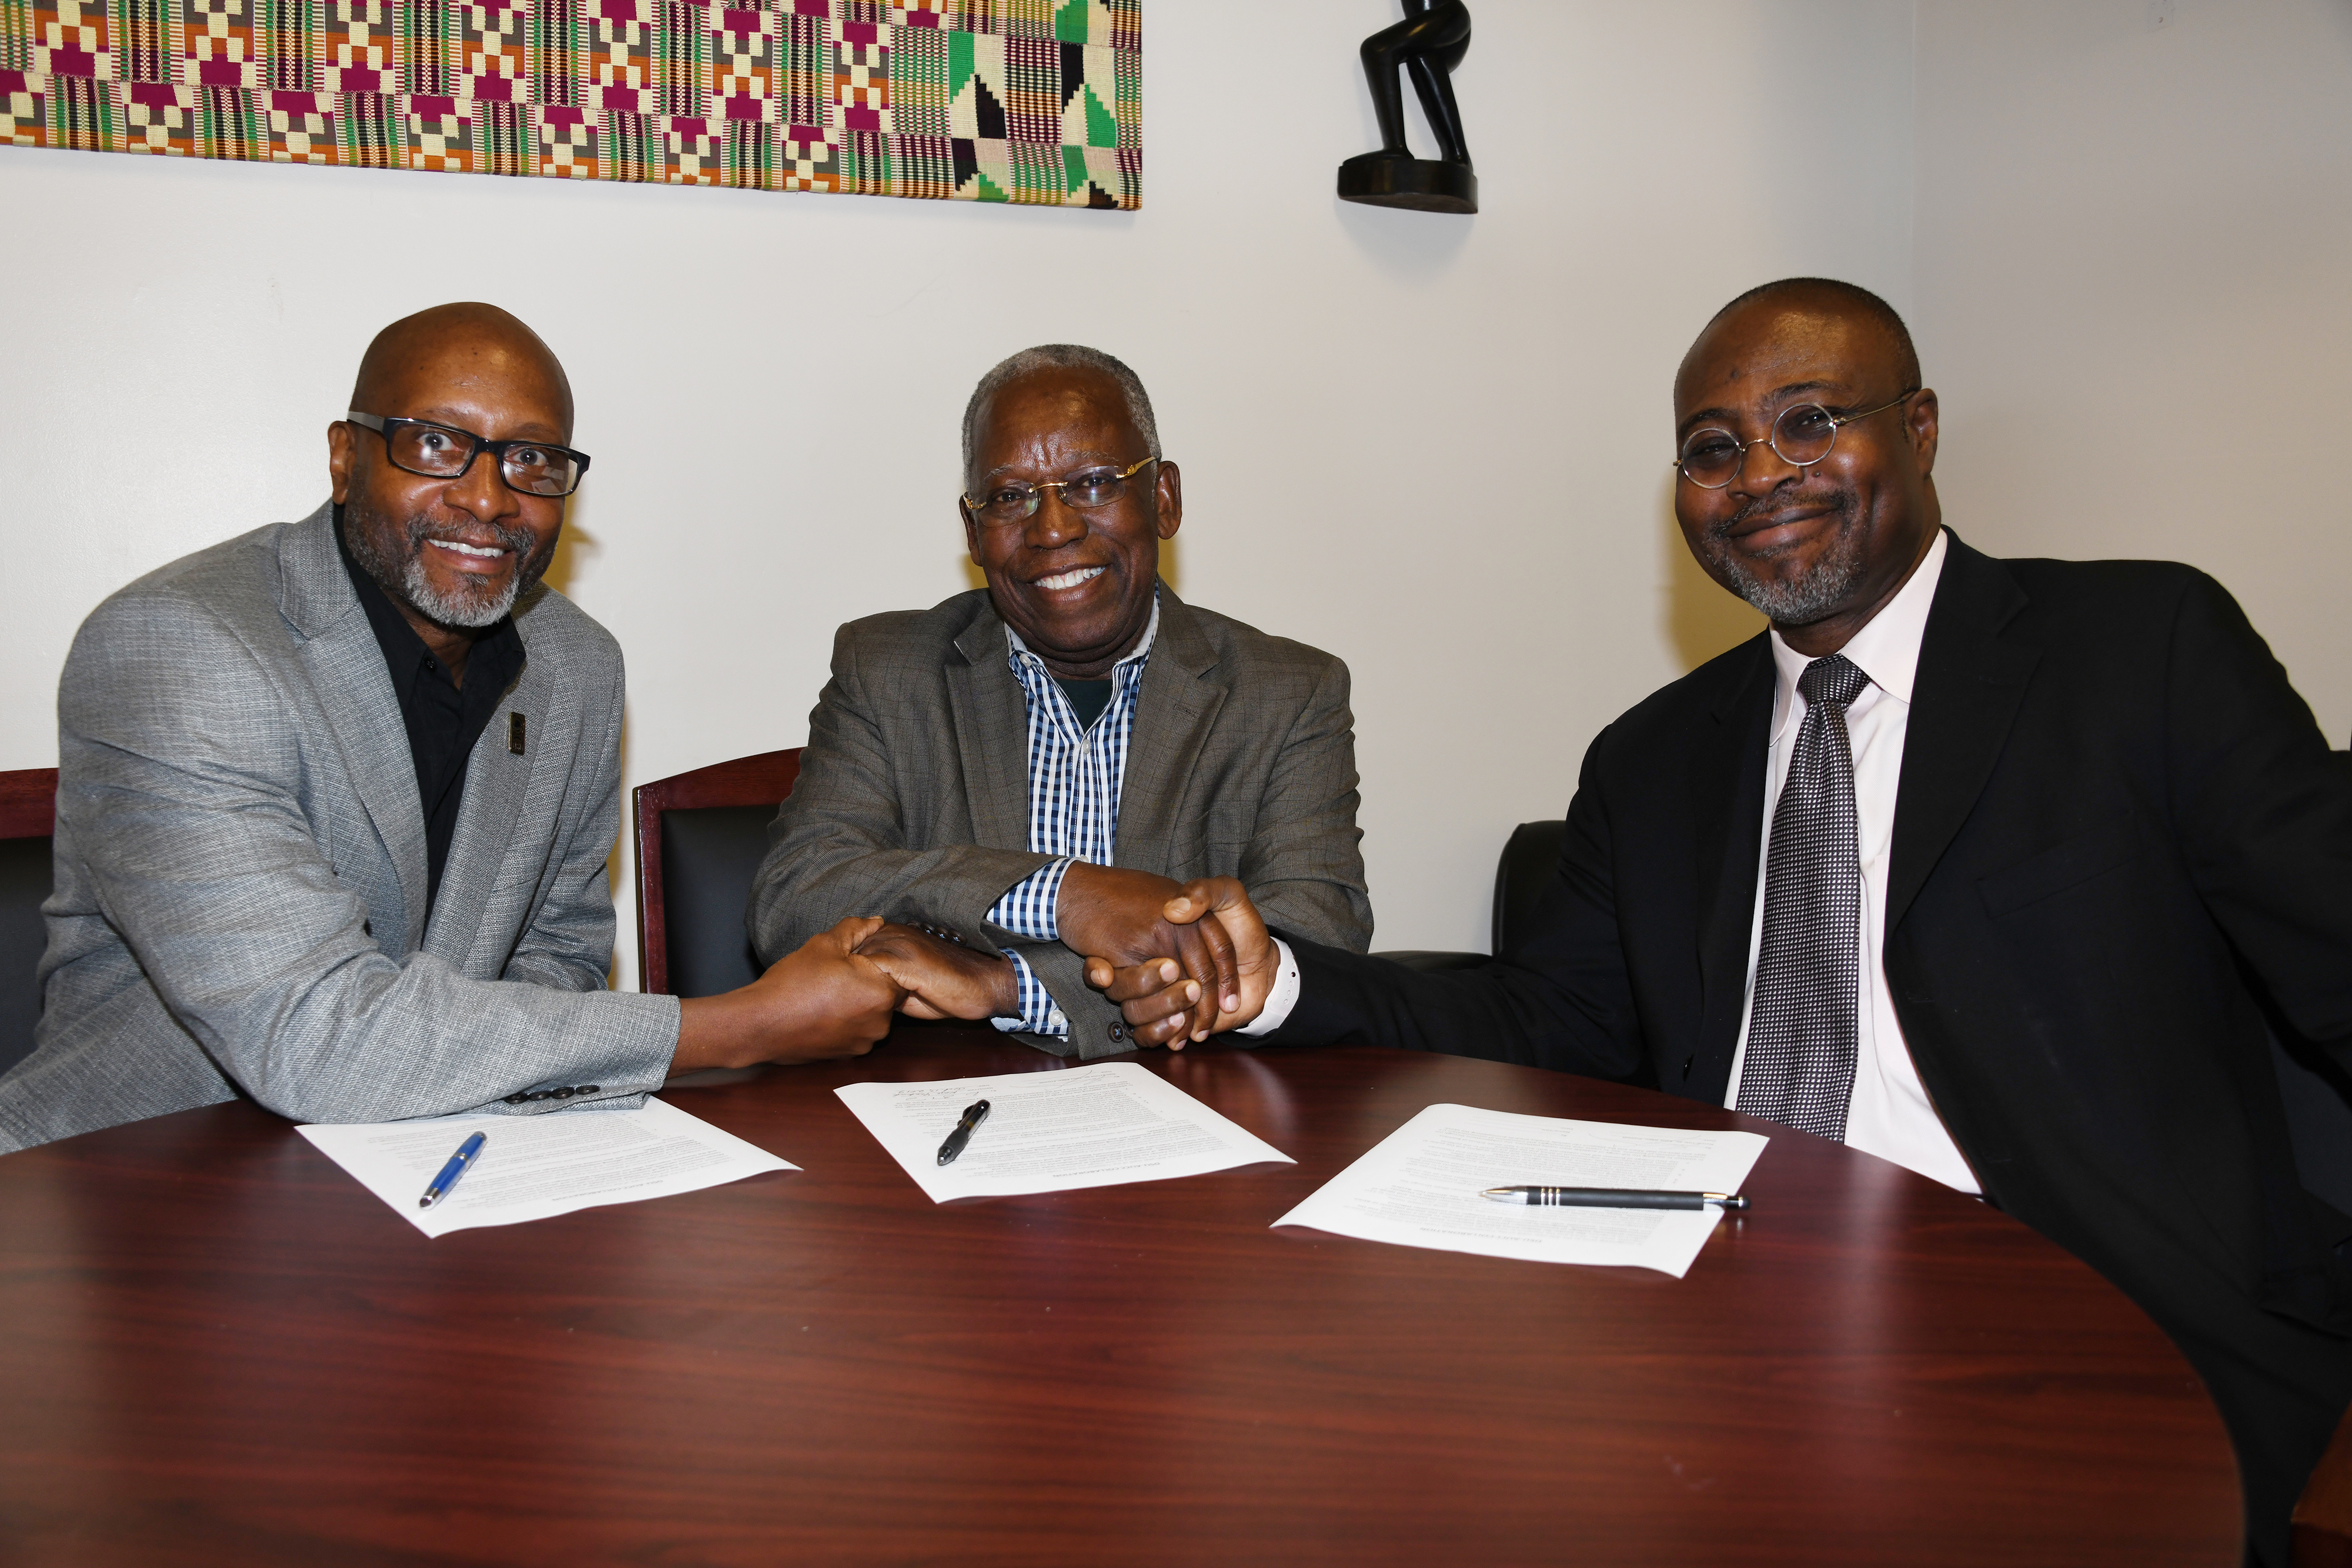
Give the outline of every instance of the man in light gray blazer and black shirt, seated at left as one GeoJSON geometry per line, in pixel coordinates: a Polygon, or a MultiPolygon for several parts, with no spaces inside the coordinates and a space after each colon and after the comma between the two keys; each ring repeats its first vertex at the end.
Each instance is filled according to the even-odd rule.
{"type": "Polygon", "coordinates": [[[880,922],[727,997],[604,990],[621,649],[539,583],[569,440],[529,327],[407,317],[327,428],[327,505],[82,623],[0,1150],[240,1093],[303,1121],[633,1105],[887,1032],[903,992],[851,954],[880,922]]]}

